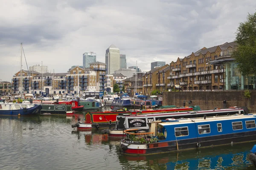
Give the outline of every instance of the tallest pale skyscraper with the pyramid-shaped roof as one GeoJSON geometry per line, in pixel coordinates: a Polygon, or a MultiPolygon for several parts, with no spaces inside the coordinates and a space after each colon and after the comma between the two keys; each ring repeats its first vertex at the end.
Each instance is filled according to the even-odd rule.
{"type": "Polygon", "coordinates": [[[113,74],[115,70],[120,69],[120,52],[115,45],[110,45],[106,50],[105,63],[107,64],[108,74],[113,74]]]}

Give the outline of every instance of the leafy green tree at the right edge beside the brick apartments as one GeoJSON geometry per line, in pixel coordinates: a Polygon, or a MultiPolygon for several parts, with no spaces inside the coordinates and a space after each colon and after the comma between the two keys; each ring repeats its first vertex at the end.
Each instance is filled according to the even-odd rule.
{"type": "Polygon", "coordinates": [[[232,56],[243,76],[256,74],[256,13],[248,14],[244,23],[239,23],[235,42],[238,44],[232,56]]]}

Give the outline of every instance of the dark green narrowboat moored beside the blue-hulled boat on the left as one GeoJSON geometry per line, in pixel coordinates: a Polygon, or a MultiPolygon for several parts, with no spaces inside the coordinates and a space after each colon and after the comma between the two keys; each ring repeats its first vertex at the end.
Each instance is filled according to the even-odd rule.
{"type": "Polygon", "coordinates": [[[39,113],[67,114],[73,115],[72,105],[66,104],[40,104],[39,113]]]}

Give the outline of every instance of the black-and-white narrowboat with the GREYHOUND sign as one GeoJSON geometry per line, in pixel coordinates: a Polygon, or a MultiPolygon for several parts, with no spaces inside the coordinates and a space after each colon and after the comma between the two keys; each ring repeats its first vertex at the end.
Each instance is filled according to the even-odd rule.
{"type": "MultiPolygon", "coordinates": [[[[198,110],[199,106],[193,106],[198,110]]],[[[200,107],[199,107],[200,108],[200,107]]],[[[185,108],[184,108],[185,109],[185,108]]],[[[140,115],[117,115],[116,116],[116,128],[109,130],[110,137],[123,137],[123,129],[140,128],[148,131],[149,124],[157,120],[165,120],[167,118],[174,119],[186,119],[209,116],[225,116],[244,114],[243,108],[228,108],[228,109],[216,109],[208,111],[186,111],[186,112],[173,112],[173,113],[154,113],[154,114],[140,114],[140,115]]]]}

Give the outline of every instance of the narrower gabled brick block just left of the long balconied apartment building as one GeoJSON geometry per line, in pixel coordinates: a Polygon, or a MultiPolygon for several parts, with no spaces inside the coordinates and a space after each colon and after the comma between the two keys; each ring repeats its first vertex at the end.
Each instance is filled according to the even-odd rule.
{"type": "Polygon", "coordinates": [[[152,91],[154,90],[158,89],[163,91],[163,89],[166,89],[167,86],[165,81],[166,71],[168,71],[168,69],[169,64],[166,64],[164,66],[155,67],[151,71],[146,72],[145,75],[143,76],[143,94],[151,95],[152,91]]]}

